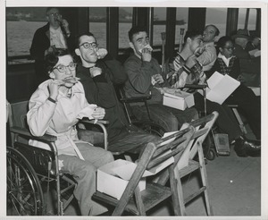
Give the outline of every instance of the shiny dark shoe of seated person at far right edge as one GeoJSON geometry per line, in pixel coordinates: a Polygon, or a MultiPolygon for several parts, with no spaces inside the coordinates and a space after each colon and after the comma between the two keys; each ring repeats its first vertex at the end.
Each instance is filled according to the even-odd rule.
{"type": "Polygon", "coordinates": [[[239,157],[261,157],[261,142],[240,137],[235,142],[234,150],[239,157]]]}

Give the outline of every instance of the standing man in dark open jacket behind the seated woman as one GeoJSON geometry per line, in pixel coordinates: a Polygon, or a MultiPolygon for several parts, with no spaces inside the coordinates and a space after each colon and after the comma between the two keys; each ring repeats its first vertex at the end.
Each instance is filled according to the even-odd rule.
{"type": "Polygon", "coordinates": [[[63,19],[58,8],[48,7],[46,9],[46,20],[44,27],[39,28],[32,40],[29,53],[35,60],[35,72],[37,76],[37,85],[47,80],[47,74],[44,69],[44,57],[54,48],[69,49],[74,48],[74,38],[72,38],[69,29],[69,23],[63,19]]]}

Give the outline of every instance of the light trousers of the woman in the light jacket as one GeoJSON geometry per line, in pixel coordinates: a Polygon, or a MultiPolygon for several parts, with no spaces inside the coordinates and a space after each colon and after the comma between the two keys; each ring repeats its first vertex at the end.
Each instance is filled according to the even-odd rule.
{"type": "Polygon", "coordinates": [[[107,208],[91,199],[96,192],[96,169],[113,161],[111,152],[96,148],[88,143],[79,143],[77,147],[85,160],[76,156],[60,155],[59,164],[63,173],[70,173],[77,186],[73,191],[78,200],[82,216],[96,216],[107,211],[107,208]]]}

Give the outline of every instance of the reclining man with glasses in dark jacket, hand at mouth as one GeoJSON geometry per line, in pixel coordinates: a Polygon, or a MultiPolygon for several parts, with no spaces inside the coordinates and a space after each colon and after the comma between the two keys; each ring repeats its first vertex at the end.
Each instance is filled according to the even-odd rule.
{"type": "Polygon", "coordinates": [[[108,149],[130,150],[143,147],[147,142],[158,137],[144,131],[130,131],[121,104],[119,103],[114,85],[127,80],[121,63],[107,55],[104,48],[98,48],[96,38],[90,32],[81,34],[77,40],[75,54],[81,63],[77,67],[77,77],[80,78],[88,102],[105,108],[105,120],[109,121],[108,149]]]}

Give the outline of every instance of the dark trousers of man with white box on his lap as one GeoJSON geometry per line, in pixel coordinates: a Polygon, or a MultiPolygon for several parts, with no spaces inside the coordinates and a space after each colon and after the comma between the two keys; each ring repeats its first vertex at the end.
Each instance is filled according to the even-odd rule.
{"type": "MultiPolygon", "coordinates": [[[[165,129],[165,131],[178,131],[183,123],[189,123],[198,118],[197,109],[188,108],[181,111],[162,104],[148,105],[151,119],[165,129]]],[[[149,120],[146,106],[132,106],[132,112],[138,120],[149,120]]]]}

